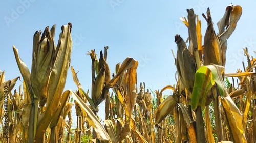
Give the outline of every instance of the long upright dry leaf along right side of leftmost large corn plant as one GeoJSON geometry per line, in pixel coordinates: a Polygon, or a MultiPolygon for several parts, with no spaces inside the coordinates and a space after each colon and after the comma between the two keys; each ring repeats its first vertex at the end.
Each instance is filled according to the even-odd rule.
{"type": "Polygon", "coordinates": [[[40,121],[37,124],[37,133],[35,140],[42,140],[42,137],[49,126],[54,113],[60,103],[60,98],[65,87],[66,77],[71,61],[72,38],[71,24],[61,27],[62,32],[59,35],[58,45],[53,57],[54,65],[49,79],[47,106],[45,115],[40,115],[40,121]]]}

